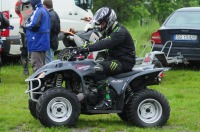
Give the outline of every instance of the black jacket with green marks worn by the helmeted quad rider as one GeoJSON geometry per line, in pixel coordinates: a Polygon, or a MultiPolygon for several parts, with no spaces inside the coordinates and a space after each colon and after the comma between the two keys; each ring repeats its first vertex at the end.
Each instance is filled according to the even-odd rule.
{"type": "Polygon", "coordinates": [[[88,46],[90,52],[108,49],[108,56],[119,60],[123,64],[135,64],[134,41],[128,30],[120,23],[117,23],[112,31],[100,41],[88,46]]]}

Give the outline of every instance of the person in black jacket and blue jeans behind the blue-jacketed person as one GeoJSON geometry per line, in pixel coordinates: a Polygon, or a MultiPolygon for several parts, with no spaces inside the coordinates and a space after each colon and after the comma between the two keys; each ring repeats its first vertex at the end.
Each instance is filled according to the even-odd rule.
{"type": "Polygon", "coordinates": [[[44,0],[43,5],[49,11],[51,16],[51,33],[50,33],[50,50],[46,52],[45,63],[49,63],[54,59],[54,51],[58,49],[58,34],[60,32],[60,18],[53,9],[52,0],[44,0]]]}

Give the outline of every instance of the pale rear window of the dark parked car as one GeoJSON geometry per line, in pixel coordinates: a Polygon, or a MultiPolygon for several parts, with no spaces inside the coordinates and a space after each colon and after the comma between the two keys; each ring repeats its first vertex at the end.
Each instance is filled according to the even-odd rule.
{"type": "Polygon", "coordinates": [[[175,12],[165,23],[166,27],[200,27],[200,12],[175,12]]]}

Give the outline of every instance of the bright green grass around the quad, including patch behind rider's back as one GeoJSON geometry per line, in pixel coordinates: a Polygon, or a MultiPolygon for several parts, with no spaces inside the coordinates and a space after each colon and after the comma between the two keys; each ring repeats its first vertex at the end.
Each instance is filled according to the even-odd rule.
{"type": "MultiPolygon", "coordinates": [[[[130,25],[130,24],[129,24],[130,25]]],[[[142,38],[147,38],[147,32],[152,33],[157,27],[128,27],[139,44],[142,38]],[[148,31],[146,31],[148,30],[148,31]],[[151,31],[150,31],[151,30],[151,31]],[[141,31],[141,33],[139,32],[141,31]],[[134,32],[134,33],[133,33],[134,32]],[[145,34],[143,34],[143,33],[145,34]],[[139,35],[141,34],[141,35],[139,35]],[[142,37],[141,37],[142,36],[142,37]]],[[[145,40],[144,40],[145,41],[145,40]]],[[[31,68],[29,67],[30,71],[31,68]]],[[[80,115],[75,127],[45,128],[34,119],[28,109],[28,95],[25,94],[27,78],[22,74],[22,66],[12,64],[3,66],[0,77],[0,132],[177,132],[200,130],[200,78],[199,68],[175,67],[165,72],[160,85],[151,86],[163,93],[169,100],[171,115],[167,124],[161,128],[138,128],[129,126],[116,114],[80,115]]]]}

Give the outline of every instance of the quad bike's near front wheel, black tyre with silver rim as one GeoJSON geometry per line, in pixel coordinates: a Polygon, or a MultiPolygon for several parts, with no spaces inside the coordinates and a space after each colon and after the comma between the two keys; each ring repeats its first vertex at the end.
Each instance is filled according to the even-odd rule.
{"type": "Polygon", "coordinates": [[[76,95],[64,88],[47,90],[36,105],[37,117],[47,127],[75,125],[80,109],[76,95]]]}

